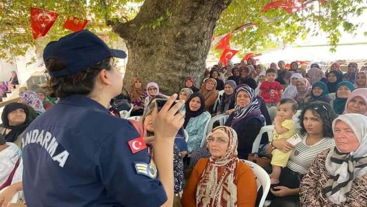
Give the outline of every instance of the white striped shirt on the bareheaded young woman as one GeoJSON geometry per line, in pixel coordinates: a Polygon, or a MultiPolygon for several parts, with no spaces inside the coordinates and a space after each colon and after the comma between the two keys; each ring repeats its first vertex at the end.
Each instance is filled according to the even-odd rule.
{"type": "Polygon", "coordinates": [[[298,135],[302,138],[302,142],[299,142],[296,148],[292,150],[287,167],[292,171],[304,175],[307,173],[315,157],[322,151],[330,147],[334,147],[335,144],[333,138],[324,137],[314,145],[307,145],[307,133],[305,133],[303,136],[300,134],[300,130],[296,130],[296,133],[298,133],[298,135]]]}

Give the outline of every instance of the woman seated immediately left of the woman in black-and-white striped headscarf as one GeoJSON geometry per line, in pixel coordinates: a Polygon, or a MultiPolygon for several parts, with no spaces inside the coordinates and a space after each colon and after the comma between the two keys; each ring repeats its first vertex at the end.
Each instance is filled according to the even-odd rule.
{"type": "MultiPolygon", "coordinates": [[[[237,84],[234,80],[227,80],[224,84],[224,94],[217,107],[217,115],[227,113],[230,105],[234,102],[234,91],[236,90],[237,84]]],[[[230,113],[228,113],[230,114],[230,113]]]]}

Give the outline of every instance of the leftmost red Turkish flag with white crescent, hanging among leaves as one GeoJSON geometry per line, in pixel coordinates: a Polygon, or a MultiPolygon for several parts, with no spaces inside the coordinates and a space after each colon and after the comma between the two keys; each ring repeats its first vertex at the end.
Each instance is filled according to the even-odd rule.
{"type": "Polygon", "coordinates": [[[59,14],[55,12],[45,11],[33,7],[30,8],[30,12],[33,39],[37,39],[40,36],[44,37],[59,16],[59,14]]]}

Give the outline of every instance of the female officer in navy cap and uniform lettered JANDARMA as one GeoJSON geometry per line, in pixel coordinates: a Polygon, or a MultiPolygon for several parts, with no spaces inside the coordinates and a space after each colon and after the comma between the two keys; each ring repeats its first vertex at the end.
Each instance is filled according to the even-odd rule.
{"type": "Polygon", "coordinates": [[[51,95],[59,103],[24,132],[23,190],[28,207],[172,207],[173,143],[183,102],[153,112],[154,160],[142,135],[109,114],[122,77],[112,57],[125,58],[88,30],[44,50],[51,95]]]}

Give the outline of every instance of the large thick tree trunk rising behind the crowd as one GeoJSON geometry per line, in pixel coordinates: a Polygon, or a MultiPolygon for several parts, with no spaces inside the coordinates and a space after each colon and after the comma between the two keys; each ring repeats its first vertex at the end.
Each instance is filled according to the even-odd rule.
{"type": "Polygon", "coordinates": [[[126,40],[129,59],[124,85],[141,77],[171,95],[188,76],[199,86],[216,22],[231,0],[145,0],[135,19],[113,29],[126,40]],[[167,15],[171,13],[172,15],[167,15]],[[163,17],[162,25],[152,24],[163,17]]]}

